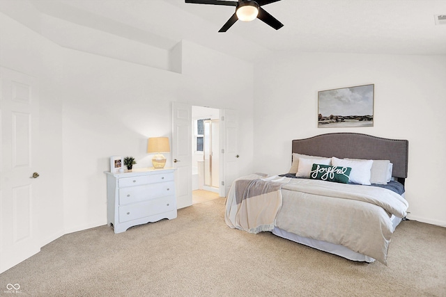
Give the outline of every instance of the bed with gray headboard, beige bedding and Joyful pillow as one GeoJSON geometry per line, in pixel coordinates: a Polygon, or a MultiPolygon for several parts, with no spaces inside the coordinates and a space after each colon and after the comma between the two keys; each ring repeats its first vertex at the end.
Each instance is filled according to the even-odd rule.
{"type": "MultiPolygon", "coordinates": [[[[353,261],[378,260],[387,265],[391,236],[408,208],[403,198],[408,141],[357,133],[322,134],[292,141],[291,155],[286,174],[253,174],[234,182],[226,199],[226,224],[252,233],[271,231],[353,261]],[[326,159],[336,163],[325,165],[326,159]],[[357,179],[360,171],[354,169],[353,179],[353,170],[348,170],[348,183],[321,180],[321,176],[295,178],[305,166],[312,166],[314,174],[319,168],[328,173],[350,168],[341,166],[345,164],[356,168],[370,163],[368,177],[357,179]],[[249,222],[253,218],[256,222],[249,222]],[[249,224],[256,227],[245,227],[249,224]]],[[[362,172],[367,172],[367,166],[362,172]]]]}

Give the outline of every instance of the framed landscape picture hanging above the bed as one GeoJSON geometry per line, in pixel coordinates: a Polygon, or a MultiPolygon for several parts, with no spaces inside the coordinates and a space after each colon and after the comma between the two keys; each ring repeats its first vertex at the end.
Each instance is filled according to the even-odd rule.
{"type": "Polygon", "coordinates": [[[373,127],[375,85],[318,92],[318,128],[373,127]]]}

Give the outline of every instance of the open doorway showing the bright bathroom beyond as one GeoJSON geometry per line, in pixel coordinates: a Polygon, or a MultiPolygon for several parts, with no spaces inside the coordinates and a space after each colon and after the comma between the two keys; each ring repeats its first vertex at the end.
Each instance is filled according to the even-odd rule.
{"type": "Polygon", "coordinates": [[[192,106],[192,204],[220,196],[220,110],[192,106]]]}

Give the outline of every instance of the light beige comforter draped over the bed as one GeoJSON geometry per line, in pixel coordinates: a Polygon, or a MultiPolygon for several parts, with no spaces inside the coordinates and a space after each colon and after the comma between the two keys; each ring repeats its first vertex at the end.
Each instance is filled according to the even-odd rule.
{"type": "MultiPolygon", "coordinates": [[[[261,175],[243,177],[256,178],[265,179],[261,175]]],[[[394,214],[403,218],[408,208],[401,195],[374,186],[314,179],[268,179],[283,183],[280,190],[282,195],[279,195],[282,203],[275,203],[277,227],[299,236],[345,246],[387,264],[387,250],[393,233],[390,216],[394,214]]],[[[247,230],[240,227],[240,221],[247,221],[243,217],[247,214],[253,216],[253,209],[246,205],[240,207],[236,201],[242,198],[236,195],[234,183],[226,200],[226,223],[230,227],[247,230]]],[[[266,203],[267,200],[257,201],[266,203]]],[[[262,207],[256,205],[256,209],[262,207]]],[[[270,224],[271,220],[266,223],[270,224]]]]}

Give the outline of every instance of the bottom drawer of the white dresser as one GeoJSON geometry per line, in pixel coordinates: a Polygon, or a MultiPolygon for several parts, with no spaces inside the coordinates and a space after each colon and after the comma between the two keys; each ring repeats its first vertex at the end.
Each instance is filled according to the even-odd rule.
{"type": "Polygon", "coordinates": [[[175,196],[171,196],[120,206],[118,207],[119,223],[174,210],[176,209],[175,199],[175,196]]]}

